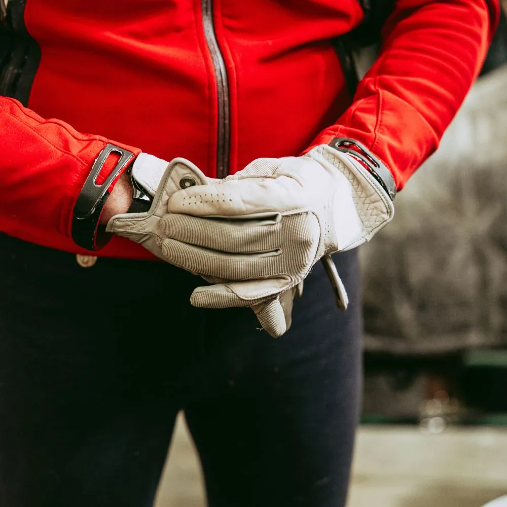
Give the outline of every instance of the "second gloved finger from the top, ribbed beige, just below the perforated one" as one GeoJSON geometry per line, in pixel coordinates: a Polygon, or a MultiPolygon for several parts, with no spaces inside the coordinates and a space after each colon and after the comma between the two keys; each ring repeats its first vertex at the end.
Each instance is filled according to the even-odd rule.
{"type": "Polygon", "coordinates": [[[167,238],[229,253],[259,253],[280,245],[280,215],[264,220],[221,220],[168,213],[159,223],[167,238]]]}

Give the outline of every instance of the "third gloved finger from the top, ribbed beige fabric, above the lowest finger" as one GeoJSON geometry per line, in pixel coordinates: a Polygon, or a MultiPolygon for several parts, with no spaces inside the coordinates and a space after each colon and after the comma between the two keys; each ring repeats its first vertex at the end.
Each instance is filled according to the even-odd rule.
{"type": "Polygon", "coordinates": [[[174,239],[162,242],[162,254],[170,264],[198,275],[226,280],[251,280],[276,276],[280,250],[239,255],[189,245],[174,239]]]}

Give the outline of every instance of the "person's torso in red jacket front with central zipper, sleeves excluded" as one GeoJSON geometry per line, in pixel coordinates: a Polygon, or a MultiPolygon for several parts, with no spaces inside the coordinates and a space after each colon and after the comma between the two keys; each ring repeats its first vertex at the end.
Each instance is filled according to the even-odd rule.
{"type": "Polygon", "coordinates": [[[330,41],[362,16],[359,0],[27,0],[28,106],[224,176],[336,121],[350,97],[330,41]]]}

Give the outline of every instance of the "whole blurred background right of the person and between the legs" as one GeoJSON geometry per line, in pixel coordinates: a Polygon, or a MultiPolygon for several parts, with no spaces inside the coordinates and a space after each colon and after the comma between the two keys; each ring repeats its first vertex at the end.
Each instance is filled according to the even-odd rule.
{"type": "MultiPolygon", "coordinates": [[[[376,51],[356,54],[359,74],[376,51]]],[[[365,380],[349,507],[507,495],[505,16],[440,149],[360,255],[365,380]]],[[[169,456],[157,507],[203,507],[183,418],[169,456]]]]}

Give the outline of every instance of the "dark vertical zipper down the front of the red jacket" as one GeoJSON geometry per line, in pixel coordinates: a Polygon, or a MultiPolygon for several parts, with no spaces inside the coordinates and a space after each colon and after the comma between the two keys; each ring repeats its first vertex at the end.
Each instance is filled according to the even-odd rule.
{"type": "MultiPolygon", "coordinates": [[[[0,0],[1,1],[1,0],[0,0]]],[[[225,178],[229,173],[230,150],[230,104],[229,82],[224,57],[216,41],[213,22],[213,0],[201,0],[202,24],[204,36],[208,46],[213,67],[215,70],[217,102],[218,102],[218,128],[216,136],[216,177],[225,178]]]]}

